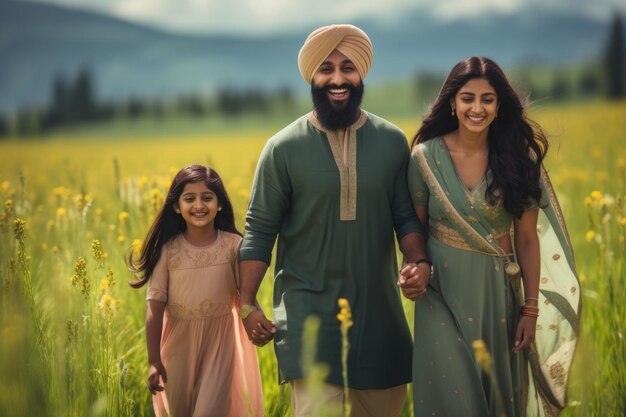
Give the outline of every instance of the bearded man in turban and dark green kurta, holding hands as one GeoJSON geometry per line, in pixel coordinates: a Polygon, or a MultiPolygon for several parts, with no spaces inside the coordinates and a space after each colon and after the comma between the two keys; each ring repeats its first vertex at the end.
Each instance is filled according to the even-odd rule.
{"type": "Polygon", "coordinates": [[[405,295],[425,292],[430,263],[407,187],[406,137],[361,109],[372,57],[368,36],[355,26],[309,35],[298,67],[311,84],[314,109],[267,142],[252,186],[239,252],[240,316],[256,345],[274,337],[279,379],[290,384],[297,417],[345,400],[339,298],[352,309],[351,415],[397,416],[411,381],[394,232],[407,263],[398,280],[405,295]],[[277,236],[271,322],[254,300],[277,236]],[[309,316],[320,320],[314,359],[329,370],[315,395],[302,369],[309,316]]]}

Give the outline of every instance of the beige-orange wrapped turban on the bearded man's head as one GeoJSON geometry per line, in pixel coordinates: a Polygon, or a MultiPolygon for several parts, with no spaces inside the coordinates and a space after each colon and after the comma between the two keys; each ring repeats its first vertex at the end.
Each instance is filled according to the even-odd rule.
{"type": "Polygon", "coordinates": [[[365,32],[353,25],[330,25],[316,29],[306,38],[298,54],[298,68],[311,84],[313,74],[334,50],[344,54],[364,79],[372,66],[373,48],[365,32]]]}

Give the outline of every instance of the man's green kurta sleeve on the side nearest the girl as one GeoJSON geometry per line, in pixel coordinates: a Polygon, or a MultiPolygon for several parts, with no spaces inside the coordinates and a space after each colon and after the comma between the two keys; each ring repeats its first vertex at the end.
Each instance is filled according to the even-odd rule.
{"type": "Polygon", "coordinates": [[[284,155],[273,140],[266,145],[257,165],[246,214],[239,260],[270,264],[272,248],[286,211],[291,185],[284,155]]]}

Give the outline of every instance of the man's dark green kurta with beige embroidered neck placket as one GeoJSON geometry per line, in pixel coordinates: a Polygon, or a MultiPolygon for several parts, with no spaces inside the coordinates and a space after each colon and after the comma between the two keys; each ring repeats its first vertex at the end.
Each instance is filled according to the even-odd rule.
{"type": "Polygon", "coordinates": [[[269,264],[278,234],[274,346],[280,381],[301,369],[304,321],[321,320],[317,360],[342,384],[337,300],[347,298],[349,385],[382,389],[411,381],[411,335],[396,286],[398,239],[421,231],[411,205],[404,134],[362,112],[345,141],[313,114],[266,144],[246,218],[241,260],[269,264]],[[345,146],[342,145],[345,143],[345,146]]]}

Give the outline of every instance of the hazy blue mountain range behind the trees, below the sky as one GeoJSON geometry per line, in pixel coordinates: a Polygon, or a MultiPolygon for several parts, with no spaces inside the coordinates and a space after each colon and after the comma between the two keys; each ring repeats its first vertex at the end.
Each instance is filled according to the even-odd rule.
{"type": "MultiPolygon", "coordinates": [[[[374,45],[368,83],[445,72],[469,55],[503,67],[597,59],[609,22],[575,13],[527,10],[515,15],[441,21],[418,8],[393,22],[351,22],[374,45]]],[[[289,87],[307,91],[297,54],[314,27],[271,36],[184,35],[97,13],[0,0],[0,112],[44,104],[55,77],[88,68],[100,99],[210,94],[222,88],[289,87]]]]}

